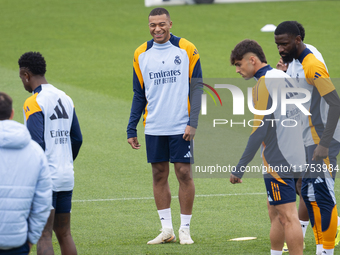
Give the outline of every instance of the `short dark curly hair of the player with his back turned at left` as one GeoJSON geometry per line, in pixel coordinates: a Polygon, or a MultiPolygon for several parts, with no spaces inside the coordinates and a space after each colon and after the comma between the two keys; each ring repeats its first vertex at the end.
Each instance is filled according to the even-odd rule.
{"type": "Polygon", "coordinates": [[[46,73],[46,62],[40,52],[26,52],[18,61],[19,67],[27,68],[34,75],[45,75],[46,73]]]}

